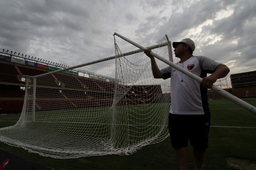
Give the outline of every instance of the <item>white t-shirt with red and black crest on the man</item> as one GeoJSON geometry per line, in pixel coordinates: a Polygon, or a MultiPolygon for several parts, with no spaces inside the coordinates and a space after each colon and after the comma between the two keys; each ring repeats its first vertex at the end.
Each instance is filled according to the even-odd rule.
{"type": "MultiPolygon", "coordinates": [[[[183,63],[175,63],[180,67],[203,78],[213,73],[220,64],[204,56],[191,56],[183,63]]],[[[161,69],[164,78],[171,77],[171,108],[170,113],[179,115],[210,114],[207,101],[207,89],[186,74],[169,66],[161,69]]]]}

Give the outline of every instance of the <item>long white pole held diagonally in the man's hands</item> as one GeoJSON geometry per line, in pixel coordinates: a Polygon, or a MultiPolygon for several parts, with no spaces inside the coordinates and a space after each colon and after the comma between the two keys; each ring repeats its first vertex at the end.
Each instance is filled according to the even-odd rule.
{"type": "MultiPolygon", "coordinates": [[[[118,37],[122,38],[123,40],[131,43],[132,45],[138,47],[139,49],[141,50],[145,50],[146,48],[145,47],[142,47],[141,45],[133,42],[132,40],[129,40],[128,38],[118,34],[118,33],[114,33],[114,35],[117,35],[118,37]]],[[[157,59],[161,60],[162,62],[168,64],[169,66],[179,70],[180,72],[186,74],[187,76],[191,77],[192,79],[200,82],[202,80],[201,77],[198,77],[197,75],[187,71],[186,69],[183,69],[182,67],[179,67],[178,65],[174,64],[173,62],[170,62],[169,60],[166,60],[165,58],[161,57],[160,55],[157,55],[156,53],[154,52],[150,52],[150,54],[154,57],[156,57],[157,59]]],[[[223,90],[223,89],[220,89],[219,87],[215,86],[215,85],[212,85],[211,89],[217,93],[219,93],[220,95],[222,96],[225,96],[225,98],[233,101],[234,103],[236,103],[237,105],[241,106],[242,108],[245,108],[246,110],[256,114],[256,108],[252,105],[250,105],[249,103],[241,100],[240,98],[237,98],[236,96],[232,95],[231,93],[228,93],[227,91],[223,90]]]]}

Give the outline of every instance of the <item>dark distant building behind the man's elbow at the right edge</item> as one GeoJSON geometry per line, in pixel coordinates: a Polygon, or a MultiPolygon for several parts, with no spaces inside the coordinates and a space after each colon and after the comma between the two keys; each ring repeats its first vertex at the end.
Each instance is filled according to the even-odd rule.
{"type": "Polygon", "coordinates": [[[256,71],[230,75],[232,88],[256,86],[256,71]]]}

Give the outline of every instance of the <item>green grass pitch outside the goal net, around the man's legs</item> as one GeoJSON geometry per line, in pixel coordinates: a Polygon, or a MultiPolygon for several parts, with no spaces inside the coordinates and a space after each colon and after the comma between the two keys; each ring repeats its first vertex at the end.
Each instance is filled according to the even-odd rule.
{"type": "MultiPolygon", "coordinates": [[[[256,98],[243,99],[256,106],[256,98]]],[[[209,148],[203,169],[256,169],[256,115],[229,100],[209,101],[212,113],[209,148]],[[250,128],[249,128],[250,127],[250,128]]],[[[1,115],[0,128],[12,126],[20,114],[1,115]]],[[[77,159],[53,159],[0,142],[1,149],[58,169],[178,169],[170,139],[150,144],[133,155],[92,156],[77,159]]],[[[193,169],[192,147],[189,169],[193,169]]]]}

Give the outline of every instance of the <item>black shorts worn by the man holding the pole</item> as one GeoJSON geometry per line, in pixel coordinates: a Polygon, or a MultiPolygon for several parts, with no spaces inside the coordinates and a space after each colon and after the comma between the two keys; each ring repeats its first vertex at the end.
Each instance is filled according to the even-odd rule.
{"type": "Polygon", "coordinates": [[[190,144],[200,152],[208,148],[210,115],[175,115],[169,113],[168,127],[173,148],[190,144]]]}

